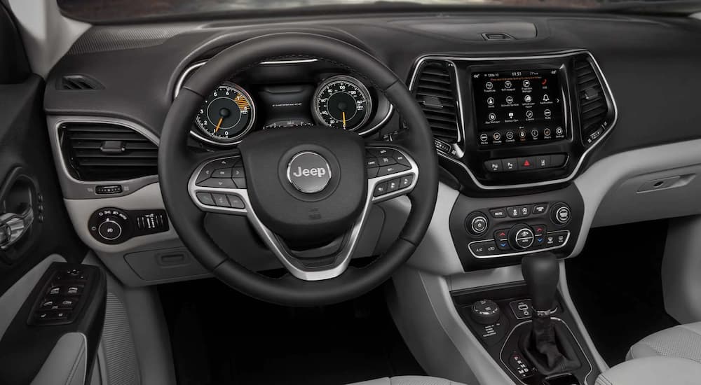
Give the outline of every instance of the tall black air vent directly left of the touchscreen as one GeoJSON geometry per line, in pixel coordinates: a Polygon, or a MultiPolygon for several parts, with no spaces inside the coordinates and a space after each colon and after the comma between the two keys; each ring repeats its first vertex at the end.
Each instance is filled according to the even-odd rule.
{"type": "Polygon", "coordinates": [[[424,64],[414,87],[416,100],[433,131],[433,137],[448,144],[458,142],[458,116],[453,80],[447,62],[424,64]]]}

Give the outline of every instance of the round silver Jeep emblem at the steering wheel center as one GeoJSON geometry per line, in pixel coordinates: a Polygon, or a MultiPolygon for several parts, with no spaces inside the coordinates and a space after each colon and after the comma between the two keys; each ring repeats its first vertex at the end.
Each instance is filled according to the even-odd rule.
{"type": "Polygon", "coordinates": [[[318,153],[298,153],[287,165],[287,180],[301,193],[318,193],[331,181],[329,162],[318,153]]]}

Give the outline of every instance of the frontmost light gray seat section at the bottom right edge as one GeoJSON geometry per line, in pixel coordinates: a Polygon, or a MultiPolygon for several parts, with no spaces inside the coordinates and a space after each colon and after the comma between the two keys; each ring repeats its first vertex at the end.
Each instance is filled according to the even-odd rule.
{"type": "Polygon", "coordinates": [[[596,385],[698,385],[701,365],[676,357],[645,357],[626,361],[599,375],[596,385]]]}

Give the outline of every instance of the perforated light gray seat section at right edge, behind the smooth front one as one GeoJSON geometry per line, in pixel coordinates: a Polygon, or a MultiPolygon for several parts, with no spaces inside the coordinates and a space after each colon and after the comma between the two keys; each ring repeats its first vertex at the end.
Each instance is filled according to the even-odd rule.
{"type": "Polygon", "coordinates": [[[701,322],[674,326],[649,335],[631,346],[626,359],[653,356],[687,358],[701,364],[701,322]]]}

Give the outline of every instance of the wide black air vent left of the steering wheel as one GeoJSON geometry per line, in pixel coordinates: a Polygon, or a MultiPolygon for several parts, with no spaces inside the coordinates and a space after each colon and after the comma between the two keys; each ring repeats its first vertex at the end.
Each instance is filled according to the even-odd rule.
{"type": "Polygon", "coordinates": [[[158,174],[158,146],[122,125],[64,123],[61,148],[76,179],[123,181],[158,174]]]}

